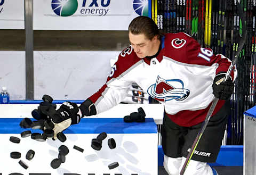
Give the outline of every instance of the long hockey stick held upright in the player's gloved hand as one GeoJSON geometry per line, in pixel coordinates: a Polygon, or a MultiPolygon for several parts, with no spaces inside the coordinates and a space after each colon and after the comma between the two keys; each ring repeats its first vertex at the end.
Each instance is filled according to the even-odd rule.
{"type": "MultiPolygon", "coordinates": [[[[233,70],[233,68],[234,68],[234,66],[235,66],[235,64],[237,62],[237,57],[239,57],[239,54],[242,51],[242,48],[243,48],[244,43],[245,43],[245,30],[246,30],[245,28],[246,28],[246,26],[245,26],[245,21],[244,21],[244,14],[243,14],[243,10],[242,10],[241,5],[238,4],[237,6],[238,6],[238,14],[239,14],[239,16],[241,18],[242,26],[243,26],[243,28],[242,28],[242,36],[240,36],[239,46],[238,46],[237,51],[235,52],[232,64],[229,66],[229,69],[228,69],[228,71],[226,73],[226,76],[222,80],[224,82],[229,78],[230,73],[233,70]]],[[[217,81],[217,83],[219,81],[217,81]]],[[[202,135],[204,133],[204,130],[205,130],[205,128],[206,128],[206,126],[207,126],[207,124],[208,124],[208,122],[210,120],[210,117],[211,117],[211,115],[212,115],[212,113],[213,113],[213,111],[215,109],[215,106],[217,105],[218,101],[219,101],[219,98],[214,97],[212,105],[211,105],[211,107],[210,107],[210,109],[209,109],[209,111],[208,111],[208,113],[206,115],[205,121],[202,123],[201,130],[198,132],[198,134],[196,136],[196,139],[194,140],[194,143],[191,146],[190,152],[187,155],[186,161],[185,161],[185,163],[182,166],[182,169],[180,171],[180,175],[183,175],[185,173],[185,170],[186,170],[186,168],[187,168],[187,166],[189,164],[189,161],[191,160],[191,157],[194,154],[194,151],[195,151],[195,149],[196,149],[196,147],[197,147],[197,145],[199,143],[199,140],[201,139],[201,137],[202,137],[202,135]]]]}

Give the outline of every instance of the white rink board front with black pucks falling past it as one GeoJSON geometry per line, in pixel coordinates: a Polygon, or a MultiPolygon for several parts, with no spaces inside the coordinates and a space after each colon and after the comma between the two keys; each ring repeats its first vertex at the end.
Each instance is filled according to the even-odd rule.
{"type": "Polygon", "coordinates": [[[30,137],[21,138],[19,144],[9,141],[10,136],[21,138],[19,134],[0,134],[1,137],[1,164],[0,173],[3,175],[13,172],[22,174],[29,173],[121,173],[123,175],[157,174],[157,134],[108,134],[102,141],[102,149],[95,151],[91,148],[91,140],[98,134],[66,134],[67,140],[61,143],[59,140],[47,139],[44,142],[36,141],[30,137]],[[116,148],[110,149],[107,139],[114,138],[116,148]],[[66,162],[62,163],[58,169],[52,169],[50,163],[58,158],[58,148],[66,145],[69,154],[66,155],[66,162]],[[73,146],[79,146],[84,152],[78,152],[73,146]],[[25,156],[29,149],[35,151],[35,156],[28,161],[25,156]],[[18,151],[21,153],[20,159],[12,159],[10,153],[18,151]],[[25,162],[29,168],[23,169],[19,165],[19,160],[25,162]],[[118,162],[119,166],[109,170],[108,164],[118,162]]]}

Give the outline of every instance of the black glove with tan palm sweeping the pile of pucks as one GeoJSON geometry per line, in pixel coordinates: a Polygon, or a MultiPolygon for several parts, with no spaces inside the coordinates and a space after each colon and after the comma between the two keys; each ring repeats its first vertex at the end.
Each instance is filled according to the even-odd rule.
{"type": "Polygon", "coordinates": [[[54,124],[53,139],[58,139],[57,134],[67,129],[71,124],[77,124],[81,120],[81,112],[77,104],[71,102],[64,102],[55,114],[50,116],[54,124]]]}

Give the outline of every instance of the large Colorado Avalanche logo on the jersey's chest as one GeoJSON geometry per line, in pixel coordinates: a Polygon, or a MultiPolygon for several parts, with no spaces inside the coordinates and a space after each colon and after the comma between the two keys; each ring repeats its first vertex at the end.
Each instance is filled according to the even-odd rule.
{"type": "Polygon", "coordinates": [[[190,90],[184,89],[183,86],[180,79],[165,80],[158,76],[156,83],[148,88],[148,94],[161,102],[171,101],[172,99],[183,101],[190,94],[190,90]]]}

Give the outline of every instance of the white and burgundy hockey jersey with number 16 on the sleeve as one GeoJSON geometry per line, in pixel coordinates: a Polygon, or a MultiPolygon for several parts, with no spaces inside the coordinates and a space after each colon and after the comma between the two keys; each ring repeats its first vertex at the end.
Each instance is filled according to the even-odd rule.
{"type": "MultiPolygon", "coordinates": [[[[214,98],[213,79],[216,74],[227,72],[231,61],[202,48],[183,32],[166,34],[161,45],[159,54],[150,59],[140,59],[132,46],[119,54],[106,84],[89,97],[97,114],[120,103],[132,82],[136,82],[164,104],[173,122],[189,127],[204,121],[214,98]]],[[[235,69],[231,77],[235,80],[235,69]]],[[[218,102],[213,115],[224,103],[218,102]]]]}

